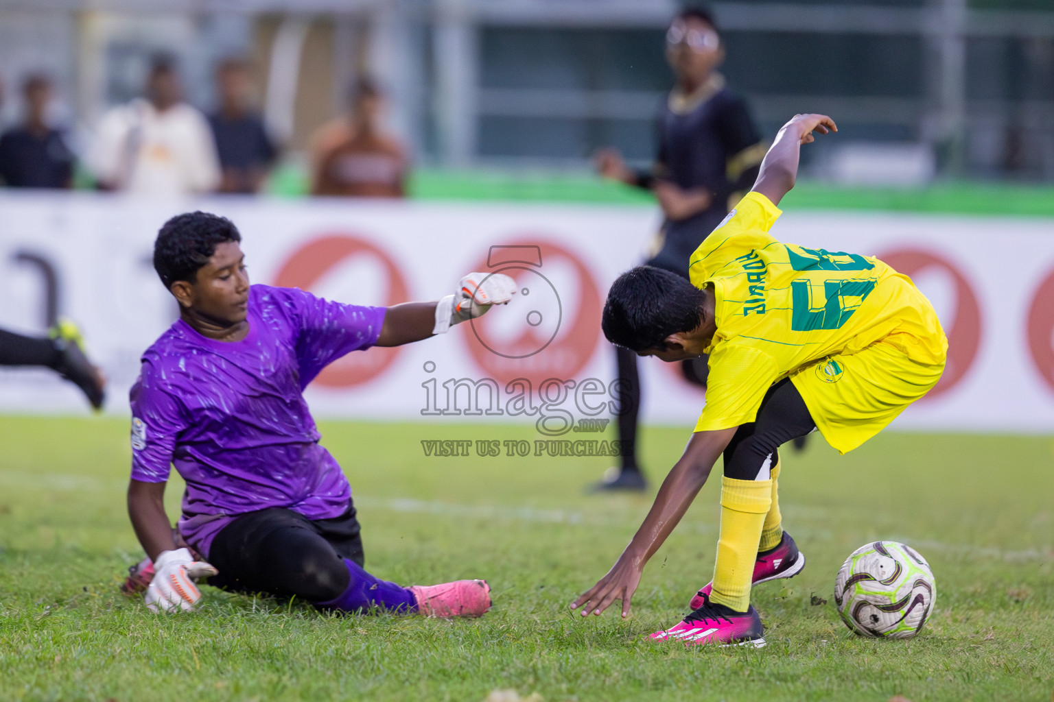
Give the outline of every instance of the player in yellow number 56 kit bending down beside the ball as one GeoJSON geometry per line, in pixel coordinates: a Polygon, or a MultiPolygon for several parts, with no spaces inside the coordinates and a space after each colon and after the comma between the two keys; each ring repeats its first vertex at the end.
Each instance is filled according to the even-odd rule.
{"type": "Polygon", "coordinates": [[[814,131],[838,128],[824,115],[797,115],[780,129],[753,190],[692,254],[690,283],[640,266],[611,285],[608,340],[664,361],[709,354],[709,387],[644,523],[607,575],[571,603],[583,616],[616,600],[629,615],[644,564],[723,455],[714,580],[692,598],[691,614],[651,638],[763,646],[750,587],[805,564],[780,520],[779,446],[816,428],[840,453],[852,450],[944,369],[944,333],[910,278],[873,257],[787,244],[768,233],[814,131]]]}

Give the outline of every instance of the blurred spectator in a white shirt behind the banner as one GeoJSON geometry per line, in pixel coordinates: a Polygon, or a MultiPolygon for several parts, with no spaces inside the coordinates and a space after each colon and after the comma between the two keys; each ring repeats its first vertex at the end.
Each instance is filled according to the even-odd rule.
{"type": "Polygon", "coordinates": [[[172,62],[154,62],[147,98],[102,118],[91,154],[99,185],[144,195],[216,189],[219,162],[212,131],[204,116],[182,101],[172,62]]]}

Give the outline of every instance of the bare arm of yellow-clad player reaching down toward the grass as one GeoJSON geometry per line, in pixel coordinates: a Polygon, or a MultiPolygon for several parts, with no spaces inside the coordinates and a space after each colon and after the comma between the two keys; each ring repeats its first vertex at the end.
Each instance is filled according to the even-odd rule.
{"type": "Polygon", "coordinates": [[[644,565],[684,517],[734,434],[736,427],[691,435],[681,460],[659,488],[641,528],[607,575],[571,602],[571,609],[582,607],[583,617],[590,611],[600,615],[612,602],[622,600],[622,616],[629,616],[630,600],[641,582],[644,565]]]}

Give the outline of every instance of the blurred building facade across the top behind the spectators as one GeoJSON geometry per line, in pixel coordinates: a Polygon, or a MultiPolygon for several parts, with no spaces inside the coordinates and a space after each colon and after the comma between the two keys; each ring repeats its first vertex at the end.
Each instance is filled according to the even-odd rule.
{"type": "MultiPolygon", "coordinates": [[[[674,0],[0,0],[0,119],[45,71],[57,119],[83,131],[179,58],[189,100],[249,56],[269,128],[293,154],[358,76],[387,89],[418,161],[578,166],[602,145],[646,161],[669,88],[674,0]]],[[[797,112],[836,117],[811,154],[845,179],[889,172],[1054,180],[1051,0],[709,3],[723,67],[767,135],[797,112]]]]}

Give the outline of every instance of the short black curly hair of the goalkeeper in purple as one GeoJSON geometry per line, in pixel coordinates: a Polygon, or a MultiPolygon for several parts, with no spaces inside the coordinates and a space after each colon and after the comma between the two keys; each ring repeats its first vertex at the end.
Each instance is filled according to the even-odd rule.
{"type": "Polygon", "coordinates": [[[241,241],[234,222],[218,215],[190,212],[176,215],[154,241],[154,270],[165,287],[177,280],[194,282],[198,268],[216,253],[217,244],[241,241]]]}

